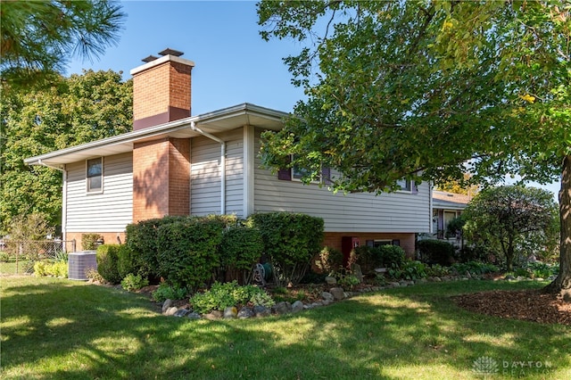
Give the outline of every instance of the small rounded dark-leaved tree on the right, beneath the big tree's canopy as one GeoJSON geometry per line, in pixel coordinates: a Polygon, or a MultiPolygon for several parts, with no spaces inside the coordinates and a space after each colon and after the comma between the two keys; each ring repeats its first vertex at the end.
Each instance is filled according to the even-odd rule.
{"type": "Polygon", "coordinates": [[[557,240],[553,234],[557,204],[549,191],[539,188],[490,187],[476,195],[463,217],[472,242],[501,253],[508,270],[517,253],[527,257],[557,240]]]}

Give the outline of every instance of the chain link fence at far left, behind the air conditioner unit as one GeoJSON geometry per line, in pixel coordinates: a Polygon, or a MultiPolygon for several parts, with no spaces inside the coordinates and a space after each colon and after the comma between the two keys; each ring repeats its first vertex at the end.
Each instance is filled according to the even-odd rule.
{"type": "Polygon", "coordinates": [[[36,261],[67,260],[68,252],[76,252],[75,240],[0,240],[0,273],[33,273],[36,261]]]}

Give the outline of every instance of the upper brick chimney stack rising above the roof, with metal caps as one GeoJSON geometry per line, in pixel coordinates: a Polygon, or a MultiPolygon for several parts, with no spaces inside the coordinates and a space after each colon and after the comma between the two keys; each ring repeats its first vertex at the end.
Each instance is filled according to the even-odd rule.
{"type": "Polygon", "coordinates": [[[194,62],[182,52],[165,49],[161,58],[146,57],[133,76],[133,130],[153,127],[190,116],[191,75],[194,62]]]}

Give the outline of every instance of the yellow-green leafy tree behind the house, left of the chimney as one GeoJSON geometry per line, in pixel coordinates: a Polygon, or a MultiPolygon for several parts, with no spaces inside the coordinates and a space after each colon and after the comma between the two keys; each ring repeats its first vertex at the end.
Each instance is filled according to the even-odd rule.
{"type": "Polygon", "coordinates": [[[129,131],[132,82],[113,71],[59,77],[55,86],[14,91],[0,104],[0,233],[16,216],[43,213],[52,226],[62,210],[62,173],[23,159],[129,131]]]}

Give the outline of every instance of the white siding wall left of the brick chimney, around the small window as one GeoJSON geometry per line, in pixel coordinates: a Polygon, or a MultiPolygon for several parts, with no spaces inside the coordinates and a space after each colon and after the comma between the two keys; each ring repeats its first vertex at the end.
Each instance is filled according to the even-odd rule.
{"type": "Polygon", "coordinates": [[[123,232],[133,220],[133,154],[104,158],[101,193],[86,193],[86,161],[66,169],[66,231],[123,232]]]}

